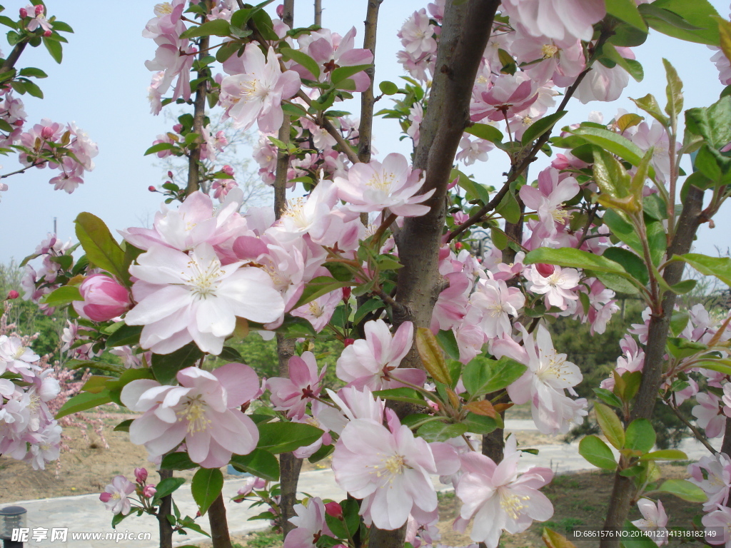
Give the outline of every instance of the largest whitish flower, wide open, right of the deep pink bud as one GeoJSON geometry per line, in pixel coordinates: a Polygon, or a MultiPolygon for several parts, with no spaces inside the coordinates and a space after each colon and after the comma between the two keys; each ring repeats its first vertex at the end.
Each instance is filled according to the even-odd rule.
{"type": "Polygon", "coordinates": [[[126,315],[128,325],[143,325],[140,345],[169,354],[194,340],[205,352],[219,354],[236,318],[258,323],[278,319],[284,300],[262,269],[222,266],[213,248],[203,243],[190,255],[152,246],[129,272],[137,278],[137,301],[126,315]]]}

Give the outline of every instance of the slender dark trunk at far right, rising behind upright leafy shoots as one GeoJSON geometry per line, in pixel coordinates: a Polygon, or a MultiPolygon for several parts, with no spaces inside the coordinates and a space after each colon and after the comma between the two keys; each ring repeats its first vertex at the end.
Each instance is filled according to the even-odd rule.
{"type": "MultiPolygon", "coordinates": [[[[667,256],[682,255],[690,251],[693,238],[700,226],[702,208],[703,192],[691,186],[685,202],[683,202],[683,211],[678,218],[675,237],[673,237],[673,242],[667,250],[667,256]]],[[[663,278],[669,286],[681,281],[684,265],[683,262],[674,262],[665,267],[663,278]]],[[[675,294],[665,292],[662,297],[660,313],[651,316],[642,382],[635,397],[635,405],[632,407],[632,420],[649,419],[652,416],[657,393],[660,384],[662,384],[665,343],[667,343],[667,334],[670,331],[670,319],[673,316],[674,308],[675,294]]],[[[617,473],[614,476],[614,487],[605,527],[621,528],[624,526],[634,494],[635,487],[632,480],[617,473]]],[[[601,548],[617,548],[619,539],[602,539],[600,546],[601,548]]]]}

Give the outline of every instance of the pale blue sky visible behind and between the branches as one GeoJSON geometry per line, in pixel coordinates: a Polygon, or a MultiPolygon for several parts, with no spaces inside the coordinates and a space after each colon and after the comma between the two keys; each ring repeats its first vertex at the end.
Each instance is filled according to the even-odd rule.
{"type": "MultiPolygon", "coordinates": [[[[728,15],[728,4],[711,0],[722,16],[728,15]]],[[[6,1],[6,13],[15,17],[26,1],[6,1]]],[[[0,194],[0,262],[22,259],[53,230],[57,219],[58,235],[64,240],[73,237],[73,220],[78,213],[90,211],[104,219],[113,229],[143,226],[151,222],[162,201],[159,194],[151,194],[150,185],[162,183],[164,173],[155,166],[155,159],[143,156],[156,135],[169,128],[162,115],[149,113],[147,88],[152,73],[144,61],[154,56],[155,45],[144,39],[141,31],[153,14],[154,0],[129,0],[115,4],[117,9],[92,9],[80,1],[48,0],[50,15],[69,23],[75,34],[67,36],[64,61],[58,65],[44,48],[26,50],[18,63],[37,66],[48,73],[40,80],[45,99],[23,96],[29,123],[41,118],[68,123],[74,121],[92,140],[99,143],[96,169],[86,174],[86,183],[73,194],[53,191],[48,180],[53,176],[48,169],[29,170],[23,175],[5,179],[10,186],[0,194]]],[[[376,51],[376,80],[398,80],[401,66],[395,61],[400,47],[396,32],[415,10],[425,7],[426,0],[385,0],[381,6],[378,45],[376,51]]],[[[352,26],[358,30],[356,41],[363,38],[363,19],[366,0],[322,0],[323,25],[345,34],[352,26]]],[[[307,26],[313,17],[311,0],[295,0],[295,24],[307,26]]],[[[2,46],[4,54],[10,50],[2,46]]],[[[664,71],[662,57],[678,69],[685,83],[686,108],[705,106],[716,101],[723,86],[716,69],[708,59],[711,51],[703,45],[689,44],[651,34],[648,42],[635,48],[637,60],[645,68],[642,83],[630,81],[623,96],[641,97],[652,93],[664,104],[664,71]]],[[[382,99],[377,108],[385,107],[382,99]]],[[[613,117],[618,107],[635,112],[629,100],[612,104],[582,105],[573,101],[563,122],[573,123],[586,118],[591,110],[613,117]]],[[[349,105],[357,114],[357,104],[349,105]]],[[[395,121],[376,120],[374,145],[383,157],[390,152],[408,154],[410,140],[398,140],[399,128],[395,121]]],[[[487,164],[472,166],[472,172],[481,183],[498,186],[507,162],[500,151],[490,153],[487,164]]],[[[504,155],[503,155],[504,156],[504,155]]],[[[14,157],[0,157],[0,173],[18,169],[14,157]]],[[[731,216],[721,210],[716,229],[707,225],[701,229],[697,251],[715,254],[714,246],[730,246],[731,216]],[[727,218],[728,221],[724,221],[727,218]]]]}

